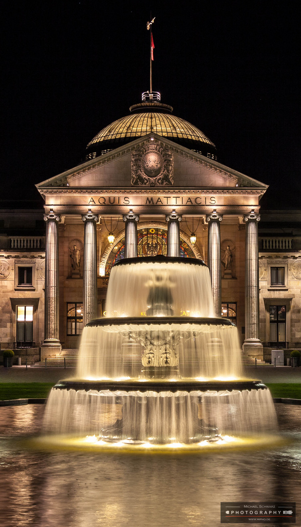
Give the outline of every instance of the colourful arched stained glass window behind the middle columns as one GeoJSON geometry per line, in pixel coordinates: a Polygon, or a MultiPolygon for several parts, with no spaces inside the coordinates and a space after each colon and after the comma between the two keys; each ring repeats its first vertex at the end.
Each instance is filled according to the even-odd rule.
{"type": "MultiPolygon", "coordinates": [[[[167,229],[148,227],[138,229],[138,256],[167,255],[167,229]]],[[[180,256],[182,258],[195,258],[194,252],[188,243],[180,237],[180,256]]],[[[124,237],[119,240],[109,253],[106,262],[105,276],[111,272],[112,266],[118,260],[125,258],[124,237]]]]}

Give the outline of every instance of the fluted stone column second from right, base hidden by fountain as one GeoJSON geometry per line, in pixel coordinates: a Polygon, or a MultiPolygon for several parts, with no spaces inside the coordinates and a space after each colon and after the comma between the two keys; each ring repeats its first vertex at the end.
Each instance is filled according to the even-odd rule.
{"type": "Polygon", "coordinates": [[[213,305],[217,317],[222,316],[222,274],[220,271],[220,222],[223,216],[216,210],[208,214],[208,267],[211,277],[213,305]]]}

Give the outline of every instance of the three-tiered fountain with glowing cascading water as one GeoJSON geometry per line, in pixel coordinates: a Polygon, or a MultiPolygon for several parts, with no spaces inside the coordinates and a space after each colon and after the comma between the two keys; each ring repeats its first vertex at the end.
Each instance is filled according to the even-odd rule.
{"type": "Polygon", "coordinates": [[[162,445],[275,430],[268,389],[243,378],[236,327],[214,318],[202,260],[119,261],[106,310],[84,328],[76,378],[52,389],[45,431],[162,445]]]}

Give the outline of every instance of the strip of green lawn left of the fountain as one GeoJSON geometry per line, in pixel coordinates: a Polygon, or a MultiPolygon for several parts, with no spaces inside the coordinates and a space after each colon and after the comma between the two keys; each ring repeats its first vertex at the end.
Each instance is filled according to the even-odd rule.
{"type": "Polygon", "coordinates": [[[2,383],[0,401],[7,399],[43,399],[55,383],[2,383]]]}

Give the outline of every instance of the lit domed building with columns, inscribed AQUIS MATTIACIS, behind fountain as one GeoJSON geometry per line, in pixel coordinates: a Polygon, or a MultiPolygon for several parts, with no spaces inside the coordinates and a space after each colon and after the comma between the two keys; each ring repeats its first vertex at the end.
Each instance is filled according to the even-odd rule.
{"type": "Polygon", "coordinates": [[[106,316],[112,265],[126,256],[166,255],[173,229],[179,256],[208,265],[216,314],[237,325],[245,355],[263,359],[263,344],[301,341],[288,293],[290,280],[296,287],[301,280],[298,243],[278,240],[273,247],[267,232],[258,247],[267,186],[220,164],[214,143],[151,95],[99,132],[82,164],[37,185],[45,200],[39,222],[46,226],[39,246],[19,241],[26,246],[18,252],[3,235],[9,240],[5,246],[2,237],[0,257],[2,347],[26,346],[32,316],[27,343],[41,347],[42,359],[62,346],[76,348],[85,323],[106,316]]]}

